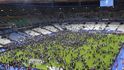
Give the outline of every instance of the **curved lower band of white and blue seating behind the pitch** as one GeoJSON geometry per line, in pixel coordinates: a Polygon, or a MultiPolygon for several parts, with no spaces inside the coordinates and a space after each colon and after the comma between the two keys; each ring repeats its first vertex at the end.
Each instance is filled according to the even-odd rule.
{"type": "Polygon", "coordinates": [[[120,24],[120,22],[85,22],[85,23],[74,23],[74,24],[64,24],[64,25],[59,25],[59,24],[54,24],[53,26],[44,26],[44,27],[37,27],[29,30],[25,30],[24,32],[14,32],[9,34],[9,39],[7,38],[2,38],[1,36],[1,42],[0,44],[9,44],[12,41],[20,42],[20,41],[25,41],[26,39],[30,37],[35,37],[35,36],[42,36],[42,35],[47,35],[51,34],[53,32],[59,32],[63,31],[65,29],[69,31],[75,31],[78,32],[80,30],[111,30],[111,31],[122,31],[124,32],[123,29],[124,26],[123,24],[120,24]]]}

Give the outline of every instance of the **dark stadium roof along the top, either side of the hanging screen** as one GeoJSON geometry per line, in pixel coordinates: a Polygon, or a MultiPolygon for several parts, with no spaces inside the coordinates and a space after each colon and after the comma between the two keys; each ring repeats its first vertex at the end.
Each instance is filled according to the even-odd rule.
{"type": "MultiPolygon", "coordinates": [[[[10,7],[100,7],[100,0],[0,0],[0,9],[10,7]]],[[[114,0],[114,9],[124,9],[124,0],[114,0]]]]}

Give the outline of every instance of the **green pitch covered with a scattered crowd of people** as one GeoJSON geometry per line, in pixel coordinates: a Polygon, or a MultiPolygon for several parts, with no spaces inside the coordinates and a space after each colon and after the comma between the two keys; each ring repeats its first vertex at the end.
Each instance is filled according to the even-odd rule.
{"type": "Polygon", "coordinates": [[[0,62],[18,62],[21,66],[43,70],[48,67],[66,70],[109,70],[123,42],[124,35],[61,32],[53,37],[46,37],[34,46],[1,53],[0,62]],[[30,59],[39,59],[43,63],[29,64],[30,59]]]}

